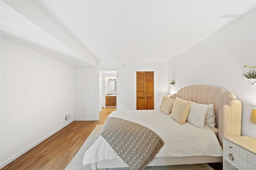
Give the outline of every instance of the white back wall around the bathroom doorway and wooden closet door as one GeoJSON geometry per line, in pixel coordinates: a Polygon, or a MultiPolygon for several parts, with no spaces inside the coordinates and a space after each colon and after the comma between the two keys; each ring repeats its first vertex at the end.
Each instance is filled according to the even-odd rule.
{"type": "Polygon", "coordinates": [[[154,71],[154,107],[167,95],[167,62],[102,61],[95,67],[75,68],[75,119],[98,119],[98,71],[117,70],[118,110],[136,109],[136,71],[154,71]],[[122,65],[126,66],[123,67],[122,65]],[[90,81],[88,81],[90,79],[90,81]],[[87,82],[86,82],[87,80],[87,82]],[[96,92],[94,92],[94,90],[96,92]]]}

